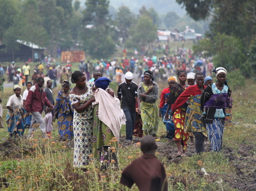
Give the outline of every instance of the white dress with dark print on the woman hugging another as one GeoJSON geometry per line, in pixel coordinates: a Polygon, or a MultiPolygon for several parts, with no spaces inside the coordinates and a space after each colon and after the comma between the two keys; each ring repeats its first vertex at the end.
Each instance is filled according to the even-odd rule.
{"type": "MultiPolygon", "coordinates": [[[[93,97],[93,82],[86,82],[88,90],[81,95],[69,94],[71,105],[79,103],[83,105],[93,97]]],[[[74,167],[85,168],[89,164],[89,155],[92,154],[93,136],[93,107],[78,113],[74,110],[74,167]]]]}

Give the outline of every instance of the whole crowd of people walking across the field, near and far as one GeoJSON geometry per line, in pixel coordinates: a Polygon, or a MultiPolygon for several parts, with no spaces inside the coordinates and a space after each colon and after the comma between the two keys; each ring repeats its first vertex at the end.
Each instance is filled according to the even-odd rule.
{"type": "MultiPolygon", "coordinates": [[[[18,138],[28,127],[28,138],[32,138],[39,127],[44,138],[51,138],[52,124],[57,120],[59,140],[74,140],[74,167],[86,171],[92,154],[100,161],[101,170],[118,169],[119,131],[121,124],[126,124],[126,143],[132,143],[132,136],[143,137],[141,150],[144,154],[124,170],[120,183],[131,187],[135,182],[140,188],[141,182],[136,182],[132,176],[140,175],[138,166],[142,163],[144,166],[140,167],[146,171],[150,169],[150,163],[155,163],[159,167],[156,169],[159,181],[151,182],[151,187],[160,184],[166,190],[165,170],[154,156],[155,142],[160,141],[157,133],[161,120],[166,126],[166,138],[176,142],[177,157],[186,156],[189,137],[197,154],[205,151],[208,137],[212,151],[219,152],[225,117],[227,123],[231,122],[233,101],[224,68],[212,69],[217,78],[213,83],[210,76],[205,77],[203,65],[194,65],[192,58],[186,64],[184,51],[179,53],[180,59],[153,56],[144,57],[143,63],[134,58],[130,61],[124,58],[120,63],[115,58],[107,62],[102,59],[95,65],[89,60],[87,63],[81,61],[79,70],[74,72],[70,62],[66,67],[48,65],[47,76],[43,74],[44,66],[40,66],[43,64],[39,64],[34,69],[32,82],[27,79],[30,67],[25,63],[20,72],[24,76],[21,83],[20,79],[15,79],[19,71],[13,62],[8,67],[9,81],[15,83],[14,94],[6,105],[8,132],[11,137],[18,138]],[[180,62],[183,57],[183,62],[180,62]],[[176,72],[177,77],[173,75],[176,72]],[[119,83],[117,97],[109,88],[113,75],[119,83]],[[138,77],[141,82],[137,85],[133,79],[138,77]],[[168,82],[168,87],[161,93],[157,83],[160,78],[168,82]],[[62,88],[55,98],[52,89],[57,86],[57,79],[60,79],[62,88]],[[75,84],[72,89],[70,82],[75,84]],[[22,96],[24,83],[26,90],[22,96]]],[[[147,179],[151,181],[152,176],[147,179]]]]}

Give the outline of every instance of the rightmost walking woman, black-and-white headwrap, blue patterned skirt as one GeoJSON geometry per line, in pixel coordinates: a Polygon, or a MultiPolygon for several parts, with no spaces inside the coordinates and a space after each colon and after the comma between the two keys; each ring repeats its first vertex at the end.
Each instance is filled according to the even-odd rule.
{"type": "Polygon", "coordinates": [[[208,85],[202,93],[201,109],[206,108],[206,128],[211,142],[212,151],[219,152],[222,147],[222,137],[225,124],[226,102],[230,95],[230,88],[226,83],[226,69],[213,68],[217,78],[216,83],[208,85]]]}

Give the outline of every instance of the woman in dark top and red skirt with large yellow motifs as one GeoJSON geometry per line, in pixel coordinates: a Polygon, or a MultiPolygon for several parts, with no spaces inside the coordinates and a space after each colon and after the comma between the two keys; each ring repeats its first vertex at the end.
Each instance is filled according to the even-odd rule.
{"type": "MultiPolygon", "coordinates": [[[[177,76],[179,78],[179,83],[170,88],[170,95],[169,95],[169,99],[167,100],[167,103],[169,104],[169,106],[165,113],[165,119],[169,119],[168,111],[171,109],[171,106],[175,103],[178,97],[185,91],[185,89],[189,86],[186,83],[187,72],[185,70],[180,70],[177,73],[177,76]]],[[[176,141],[176,144],[178,147],[178,153],[176,155],[177,157],[181,155],[186,155],[189,133],[184,131],[184,122],[185,122],[187,107],[188,107],[188,104],[185,102],[179,105],[179,107],[175,107],[175,109],[173,109],[173,106],[172,106],[172,110],[171,110],[171,116],[173,116],[174,114],[174,119],[173,119],[173,122],[175,125],[174,140],[176,141]],[[181,146],[183,148],[181,148],[181,146]]]]}

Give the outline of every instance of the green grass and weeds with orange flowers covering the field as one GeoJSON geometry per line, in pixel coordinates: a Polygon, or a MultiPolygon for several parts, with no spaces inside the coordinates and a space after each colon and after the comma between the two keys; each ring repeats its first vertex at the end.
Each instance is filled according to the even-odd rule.
{"type": "MultiPolygon", "coordinates": [[[[252,84],[251,80],[246,80],[246,84],[252,84]]],[[[160,90],[167,87],[166,83],[159,83],[160,90]]],[[[240,122],[237,125],[225,127],[223,147],[232,147],[237,153],[241,144],[256,144],[255,137],[255,84],[247,85],[241,89],[233,90],[232,97],[233,119],[240,122]],[[241,95],[242,94],[242,95],[241,95]]],[[[117,84],[111,83],[110,87],[117,92],[117,84]]],[[[60,89],[60,88],[58,88],[60,89]]],[[[10,95],[13,94],[12,88],[5,88],[0,96],[3,99],[3,119],[7,114],[6,103],[10,95]]],[[[57,89],[54,90],[57,95],[57,89]]],[[[53,124],[57,130],[57,123],[53,124]]],[[[121,135],[125,135],[125,126],[121,127],[121,135]]],[[[24,135],[28,134],[25,129],[24,135]]],[[[140,146],[119,147],[118,159],[119,170],[98,170],[98,162],[95,160],[89,166],[89,172],[84,174],[79,169],[73,168],[73,149],[69,148],[66,142],[58,142],[58,131],[53,131],[52,139],[42,139],[40,129],[35,133],[34,139],[28,141],[22,139],[15,142],[13,147],[17,149],[8,156],[0,154],[0,177],[7,179],[9,187],[2,190],[130,190],[120,185],[119,180],[121,170],[140,156],[140,146]],[[19,154],[20,155],[17,155],[19,154]],[[20,156],[17,158],[17,156],[20,156]]],[[[158,135],[165,134],[165,126],[159,124],[158,135]]],[[[7,128],[0,129],[0,142],[9,137],[7,128]]],[[[167,142],[162,139],[161,142],[167,142]]],[[[9,148],[6,148],[8,150],[9,148]]],[[[175,152],[175,151],[172,151],[175,152]]],[[[255,149],[250,151],[255,155],[255,149]]],[[[216,191],[230,190],[228,183],[222,181],[226,175],[235,175],[235,170],[231,162],[225,158],[225,154],[217,152],[207,152],[201,155],[193,155],[183,158],[179,163],[170,163],[161,153],[156,156],[165,166],[168,177],[170,191],[216,191]],[[210,176],[200,177],[196,171],[205,168],[210,176]]],[[[138,190],[133,186],[132,191],[138,190]]]]}

